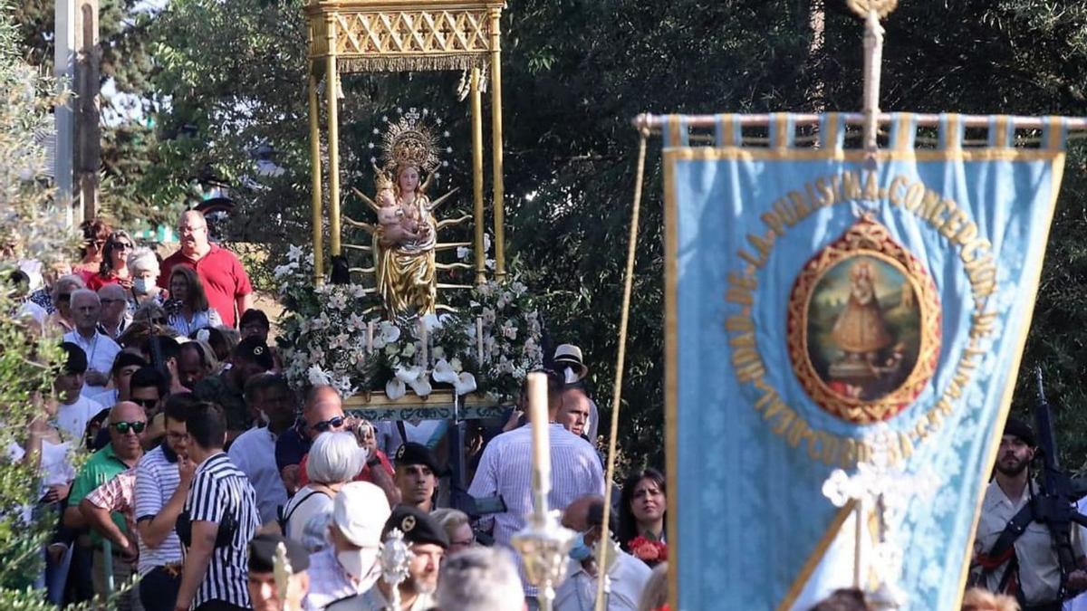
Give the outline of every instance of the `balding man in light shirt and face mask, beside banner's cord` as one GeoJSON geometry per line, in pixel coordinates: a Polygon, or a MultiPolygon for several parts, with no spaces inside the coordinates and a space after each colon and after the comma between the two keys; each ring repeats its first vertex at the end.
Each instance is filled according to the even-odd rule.
{"type": "MultiPolygon", "coordinates": [[[[597,546],[611,543],[610,537],[601,539],[603,513],[604,499],[597,496],[582,497],[570,503],[563,512],[562,525],[578,536],[570,550],[566,581],[555,593],[555,611],[592,609],[596,603],[597,584],[601,573],[597,566],[597,546]]],[[[608,549],[608,557],[604,609],[608,611],[637,609],[641,590],[645,589],[652,571],[645,562],[626,553],[617,545],[612,545],[608,549]]]]}

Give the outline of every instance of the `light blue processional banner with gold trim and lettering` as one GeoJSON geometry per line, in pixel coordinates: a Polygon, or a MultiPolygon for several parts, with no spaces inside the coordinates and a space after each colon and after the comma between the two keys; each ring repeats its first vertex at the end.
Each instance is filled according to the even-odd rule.
{"type": "MultiPolygon", "coordinates": [[[[935,486],[896,541],[909,608],[957,609],[977,509],[1034,310],[1066,129],[1015,148],[1007,116],[938,146],[895,115],[875,163],[841,117],[769,147],[721,115],[713,146],[664,130],[669,544],[683,611],[790,609],[848,508],[824,482],[889,432],[935,486]]],[[[932,141],[935,142],[933,133],[932,141]]],[[[840,576],[839,576],[840,577],[840,576]]]]}

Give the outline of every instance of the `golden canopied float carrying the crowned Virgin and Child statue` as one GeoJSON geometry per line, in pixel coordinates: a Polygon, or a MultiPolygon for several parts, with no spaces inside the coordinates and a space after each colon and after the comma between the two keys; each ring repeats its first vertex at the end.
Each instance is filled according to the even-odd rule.
{"type": "MultiPolygon", "coordinates": [[[[354,324],[350,331],[353,333],[342,344],[365,345],[364,352],[358,354],[360,372],[363,369],[362,361],[376,360],[390,345],[403,347],[404,339],[414,340],[414,346],[411,348],[413,354],[407,357],[397,354],[397,366],[401,364],[403,366],[397,370],[398,375],[393,376],[390,392],[371,388],[364,382],[360,382],[360,372],[333,372],[332,365],[323,367],[324,373],[328,374],[333,382],[342,378],[342,383],[339,384],[341,389],[351,386],[354,394],[346,400],[346,403],[361,410],[363,415],[372,420],[435,419],[454,415],[460,419],[465,415],[479,417],[499,413],[493,400],[458,392],[452,388],[432,389],[426,377],[430,373],[440,373],[446,376],[441,378],[443,382],[457,384],[458,374],[461,373],[448,371],[450,362],[459,361],[454,361],[455,354],[445,354],[442,346],[436,344],[435,336],[441,333],[436,328],[441,326],[441,322],[437,322],[437,315],[455,311],[454,308],[441,302],[439,296],[445,291],[482,287],[488,280],[507,279],[500,46],[500,18],[503,7],[504,2],[495,0],[349,0],[313,1],[303,9],[309,24],[309,119],[314,257],[310,265],[305,265],[304,258],[292,257],[291,261],[297,264],[292,272],[298,273],[301,267],[307,267],[316,292],[327,296],[339,289],[325,286],[327,270],[323,253],[326,246],[334,262],[334,282],[337,275],[336,265],[346,266],[343,255],[348,251],[355,255],[361,254],[364,260],[371,262],[368,265],[339,270],[340,282],[352,286],[348,295],[351,304],[341,310],[358,316],[352,319],[354,324]],[[384,126],[386,133],[374,151],[375,155],[380,154],[380,159],[375,157],[373,160],[375,190],[368,191],[367,187],[359,185],[351,186],[353,194],[351,197],[357,196],[366,202],[374,212],[376,222],[350,219],[341,213],[345,190],[341,189],[339,150],[338,105],[339,99],[343,96],[340,77],[355,73],[416,71],[465,73],[462,80],[467,82],[464,93],[471,105],[473,214],[438,220],[433,213],[434,209],[446,203],[455,191],[454,189],[433,201],[425,195],[426,187],[430,185],[437,170],[442,165],[440,155],[447,152],[438,149],[442,126],[440,120],[427,116],[426,110],[410,108],[401,110],[399,117],[393,117],[393,121],[387,122],[384,126]],[[493,272],[490,277],[488,277],[485,247],[488,236],[485,235],[483,139],[483,90],[488,80],[491,98],[490,197],[495,247],[493,272]],[[322,91],[326,119],[326,167],[323,167],[322,163],[322,91]],[[401,194],[396,183],[399,180],[398,173],[407,165],[414,167],[416,183],[413,192],[401,194]],[[326,180],[327,210],[323,203],[326,199],[324,192],[326,180]],[[367,195],[367,191],[373,196],[367,195]],[[383,210],[386,205],[387,210],[383,210]],[[403,211],[409,213],[404,214],[403,211]],[[326,220],[327,245],[325,245],[326,220]],[[471,242],[440,240],[439,234],[442,229],[468,221],[474,226],[474,239],[471,242]],[[408,232],[407,227],[415,230],[408,232]],[[370,242],[351,244],[346,239],[348,229],[365,232],[370,236],[370,242]],[[458,250],[471,250],[473,263],[439,260],[442,253],[458,250]],[[472,270],[474,283],[442,282],[439,277],[454,270],[472,270]],[[345,278],[345,274],[350,274],[350,279],[345,278]],[[354,308],[355,302],[364,297],[375,299],[371,301],[371,306],[358,311],[354,308]],[[426,323],[422,321],[423,317],[427,317],[426,323]],[[440,357],[446,358],[441,360],[440,357]],[[438,365],[439,360],[441,366],[438,365]],[[401,369],[407,373],[402,374],[401,369]],[[351,385],[350,382],[355,384],[351,385]]],[[[285,275],[289,275],[289,272],[285,272],[285,275]]],[[[327,303],[321,306],[326,307],[327,303]]],[[[460,317],[464,319],[470,314],[460,312],[460,317]]],[[[310,321],[302,321],[302,334],[313,328],[307,324],[308,322],[310,321]]],[[[333,322],[335,324],[335,321],[333,322]]],[[[468,351],[476,361],[475,364],[479,366],[487,360],[485,354],[487,347],[483,344],[485,321],[479,320],[477,323],[468,329],[470,334],[474,335],[470,338],[473,340],[473,346],[468,351]]],[[[490,321],[486,323],[490,324],[490,321]]],[[[457,339],[463,342],[464,337],[458,336],[457,339]]],[[[295,340],[297,338],[291,339],[295,340]]],[[[327,349],[325,345],[321,347],[327,349]]],[[[330,362],[334,359],[330,354],[325,354],[325,360],[330,362]]],[[[320,359],[314,361],[321,364],[317,362],[320,359]]],[[[295,374],[295,377],[305,376],[304,371],[295,374]]],[[[440,376],[436,376],[435,379],[438,377],[440,376]]]]}

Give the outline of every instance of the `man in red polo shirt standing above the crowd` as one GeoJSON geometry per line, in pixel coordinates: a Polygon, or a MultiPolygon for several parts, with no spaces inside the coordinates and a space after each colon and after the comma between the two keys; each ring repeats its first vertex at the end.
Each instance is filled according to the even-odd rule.
{"type": "Polygon", "coordinates": [[[223,317],[223,324],[235,326],[237,315],[253,307],[253,287],[241,261],[233,252],[208,241],[208,222],[203,214],[188,210],[177,222],[182,248],[162,262],[159,286],[170,288],[170,273],[174,265],[188,265],[196,270],[204,285],[208,303],[223,317]]]}

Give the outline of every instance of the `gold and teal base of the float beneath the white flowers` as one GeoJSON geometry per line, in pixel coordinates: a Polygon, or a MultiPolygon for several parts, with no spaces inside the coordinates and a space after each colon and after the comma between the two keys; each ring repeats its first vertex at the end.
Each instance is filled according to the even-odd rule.
{"type": "Polygon", "coordinates": [[[382,420],[482,420],[500,417],[501,404],[470,392],[454,397],[451,389],[435,389],[426,397],[409,392],[389,399],[384,391],[360,392],[343,400],[343,409],[368,421],[382,420]]]}

